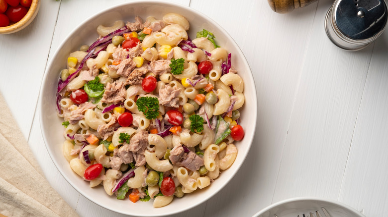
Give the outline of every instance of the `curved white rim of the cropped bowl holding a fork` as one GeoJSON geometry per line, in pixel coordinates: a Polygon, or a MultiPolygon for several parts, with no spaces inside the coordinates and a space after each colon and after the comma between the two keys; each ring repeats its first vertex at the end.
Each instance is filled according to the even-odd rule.
{"type": "Polygon", "coordinates": [[[328,199],[328,198],[319,198],[319,197],[310,197],[310,196],[294,197],[294,198],[288,198],[288,199],[285,199],[285,200],[281,200],[279,202],[271,204],[270,206],[260,210],[259,212],[254,214],[252,217],[258,217],[260,215],[263,215],[265,212],[267,212],[269,210],[272,210],[272,209],[274,209],[274,208],[276,208],[278,206],[284,205],[284,204],[288,204],[288,203],[291,203],[291,202],[301,202],[301,201],[325,202],[325,203],[329,203],[329,204],[332,204],[332,205],[341,206],[341,207],[343,207],[343,208],[345,208],[345,209],[347,209],[349,211],[352,211],[353,213],[358,215],[358,217],[365,217],[362,213],[360,213],[359,211],[357,211],[353,207],[350,207],[349,205],[346,205],[346,204],[344,204],[342,202],[339,202],[339,201],[336,201],[336,200],[333,200],[333,199],[328,199]]]}

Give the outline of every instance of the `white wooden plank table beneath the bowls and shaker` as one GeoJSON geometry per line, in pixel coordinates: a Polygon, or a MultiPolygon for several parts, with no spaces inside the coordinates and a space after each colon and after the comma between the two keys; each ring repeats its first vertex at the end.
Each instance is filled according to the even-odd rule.
{"type": "MultiPolygon", "coordinates": [[[[74,190],[40,131],[38,94],[61,41],[95,11],[130,0],[42,0],[24,30],[0,35],[0,91],[50,184],[82,217],[123,215],[74,190]]],[[[297,196],[338,200],[367,217],[388,213],[388,31],[360,52],[327,38],[332,0],[288,14],[266,0],[171,0],[219,23],[242,49],[258,93],[256,136],[232,181],[176,216],[250,217],[297,196]]]]}

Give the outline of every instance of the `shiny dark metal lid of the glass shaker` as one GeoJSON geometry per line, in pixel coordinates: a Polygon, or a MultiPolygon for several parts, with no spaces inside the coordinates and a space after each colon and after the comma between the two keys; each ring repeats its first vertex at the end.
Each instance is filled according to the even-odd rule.
{"type": "Polygon", "coordinates": [[[373,41],[387,24],[384,0],[336,0],[331,9],[337,29],[351,41],[373,41]]]}

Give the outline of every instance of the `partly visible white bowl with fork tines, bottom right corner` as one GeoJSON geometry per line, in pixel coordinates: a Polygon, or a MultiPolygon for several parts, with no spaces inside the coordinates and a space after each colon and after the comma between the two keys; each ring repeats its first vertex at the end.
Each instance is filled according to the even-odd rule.
{"type": "Polygon", "coordinates": [[[325,217],[322,207],[331,217],[365,217],[357,210],[338,201],[316,197],[296,197],[283,200],[268,206],[253,217],[274,217],[275,215],[278,217],[297,217],[298,215],[302,217],[303,214],[307,217],[310,212],[315,217],[315,211],[319,211],[321,217],[325,217]]]}

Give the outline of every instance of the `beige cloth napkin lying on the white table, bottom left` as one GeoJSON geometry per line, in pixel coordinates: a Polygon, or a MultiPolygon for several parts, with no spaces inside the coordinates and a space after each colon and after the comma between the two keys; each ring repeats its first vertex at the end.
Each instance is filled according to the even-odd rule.
{"type": "Polygon", "coordinates": [[[0,165],[0,214],[7,217],[78,216],[45,179],[1,93],[0,165]]]}

